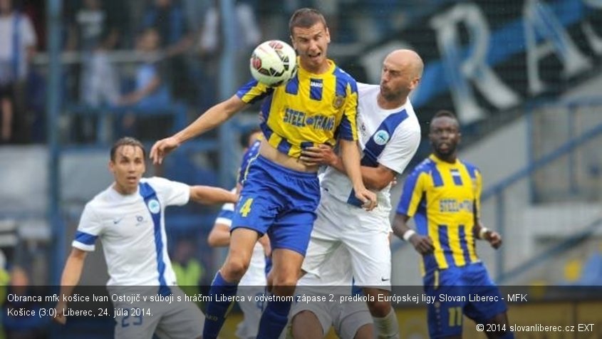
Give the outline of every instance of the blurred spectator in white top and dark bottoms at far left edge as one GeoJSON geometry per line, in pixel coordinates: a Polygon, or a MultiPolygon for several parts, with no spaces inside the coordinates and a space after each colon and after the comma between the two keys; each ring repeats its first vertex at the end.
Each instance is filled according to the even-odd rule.
{"type": "Polygon", "coordinates": [[[0,142],[29,141],[25,91],[36,41],[29,18],[0,0],[0,142]]]}

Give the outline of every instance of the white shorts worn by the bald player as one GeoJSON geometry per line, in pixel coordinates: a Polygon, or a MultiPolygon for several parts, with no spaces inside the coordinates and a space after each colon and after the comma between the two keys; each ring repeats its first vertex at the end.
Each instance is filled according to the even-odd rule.
{"type": "Polygon", "coordinates": [[[303,271],[321,276],[323,264],[340,247],[351,256],[357,286],[391,289],[390,220],[388,212],[364,209],[322,192],[318,217],[303,260],[303,271]]]}

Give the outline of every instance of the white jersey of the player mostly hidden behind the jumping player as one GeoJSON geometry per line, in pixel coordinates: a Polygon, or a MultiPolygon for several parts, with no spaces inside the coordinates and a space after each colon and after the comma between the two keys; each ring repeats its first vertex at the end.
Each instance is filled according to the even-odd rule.
{"type": "MultiPolygon", "coordinates": [[[[236,192],[235,189],[232,192],[236,192]]],[[[232,217],[234,217],[234,204],[224,204],[222,211],[219,212],[217,219],[215,219],[215,223],[231,227],[232,217]]],[[[240,279],[239,286],[266,286],[266,256],[264,254],[264,246],[261,246],[259,242],[253,248],[249,269],[246,270],[246,273],[240,279]]]]}

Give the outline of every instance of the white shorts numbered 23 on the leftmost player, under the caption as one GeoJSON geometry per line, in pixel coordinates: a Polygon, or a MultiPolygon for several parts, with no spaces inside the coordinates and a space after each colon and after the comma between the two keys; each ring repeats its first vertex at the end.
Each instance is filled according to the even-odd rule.
{"type": "Polygon", "coordinates": [[[140,301],[113,301],[115,308],[115,339],[148,339],[155,334],[159,338],[189,339],[203,335],[204,314],[192,302],[185,301],[184,292],[170,286],[172,301],[150,301],[156,298],[157,286],[148,293],[148,287],[108,288],[110,295],[132,296],[140,294],[140,301]],[[142,300],[146,296],[147,300],[142,300]],[[177,301],[180,297],[181,301],[177,301]],[[123,311],[118,311],[123,310],[123,311]],[[118,312],[121,312],[119,315],[118,312]],[[127,313],[126,313],[127,312],[127,313]]]}

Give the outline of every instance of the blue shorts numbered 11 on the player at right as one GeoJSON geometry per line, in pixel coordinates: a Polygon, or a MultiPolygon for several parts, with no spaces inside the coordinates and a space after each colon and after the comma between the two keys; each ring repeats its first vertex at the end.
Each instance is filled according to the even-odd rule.
{"type": "Polygon", "coordinates": [[[487,323],[507,311],[482,263],[427,272],[424,284],[425,294],[435,297],[435,303],[427,306],[430,338],[461,335],[462,314],[476,323],[487,323]]]}

